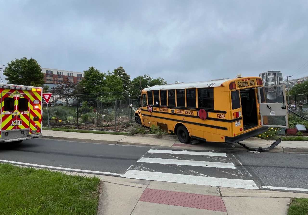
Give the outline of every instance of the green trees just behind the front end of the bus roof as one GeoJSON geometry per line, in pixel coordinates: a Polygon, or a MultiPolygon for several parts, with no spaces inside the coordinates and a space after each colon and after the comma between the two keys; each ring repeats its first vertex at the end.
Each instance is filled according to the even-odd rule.
{"type": "Polygon", "coordinates": [[[139,96],[141,90],[147,88],[148,86],[152,87],[155,85],[164,85],[164,84],[167,84],[167,81],[165,81],[161,77],[153,79],[148,74],[143,76],[137,76],[132,80],[132,85],[133,85],[132,94],[139,96]],[[140,89],[140,82],[141,82],[141,89],[140,89]]]}

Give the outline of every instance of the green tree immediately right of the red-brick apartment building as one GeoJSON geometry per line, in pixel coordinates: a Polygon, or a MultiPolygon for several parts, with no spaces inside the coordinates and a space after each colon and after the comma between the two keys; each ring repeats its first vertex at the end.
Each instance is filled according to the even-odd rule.
{"type": "Polygon", "coordinates": [[[103,93],[107,91],[105,86],[105,73],[100,72],[93,66],[84,72],[84,79],[80,82],[84,86],[83,93],[103,93]]]}

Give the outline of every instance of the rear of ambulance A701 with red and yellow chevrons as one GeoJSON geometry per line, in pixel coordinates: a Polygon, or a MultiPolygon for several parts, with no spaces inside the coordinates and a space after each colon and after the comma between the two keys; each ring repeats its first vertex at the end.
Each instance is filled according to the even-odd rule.
{"type": "Polygon", "coordinates": [[[0,84],[1,142],[42,136],[42,88],[0,84]]]}

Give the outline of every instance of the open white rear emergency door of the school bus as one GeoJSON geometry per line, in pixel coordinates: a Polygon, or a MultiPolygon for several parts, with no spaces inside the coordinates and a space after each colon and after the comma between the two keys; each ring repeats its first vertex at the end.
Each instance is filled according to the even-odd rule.
{"type": "Polygon", "coordinates": [[[288,111],[285,85],[258,88],[261,125],[268,127],[288,127],[288,111]]]}

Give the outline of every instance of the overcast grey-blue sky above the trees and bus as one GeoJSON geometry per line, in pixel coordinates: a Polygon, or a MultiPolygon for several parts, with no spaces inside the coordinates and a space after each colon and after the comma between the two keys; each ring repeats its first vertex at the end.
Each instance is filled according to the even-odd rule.
{"type": "Polygon", "coordinates": [[[308,1],[0,0],[0,64],[174,81],[308,76],[308,1]],[[306,64],[305,64],[306,63],[306,64]]]}

